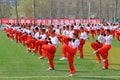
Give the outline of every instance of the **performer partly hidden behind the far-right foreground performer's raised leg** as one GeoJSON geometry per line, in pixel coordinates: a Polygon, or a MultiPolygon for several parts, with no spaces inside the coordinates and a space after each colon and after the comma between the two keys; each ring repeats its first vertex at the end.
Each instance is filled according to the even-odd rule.
{"type": "MultiPolygon", "coordinates": [[[[98,35],[98,38],[97,38],[96,42],[91,42],[90,43],[90,45],[91,45],[91,47],[94,51],[101,48],[103,46],[103,43],[104,43],[104,36],[103,36],[103,34],[100,34],[100,30],[97,30],[96,33],[98,35]]],[[[96,56],[97,56],[97,63],[101,63],[100,54],[97,53],[96,56]]]]}

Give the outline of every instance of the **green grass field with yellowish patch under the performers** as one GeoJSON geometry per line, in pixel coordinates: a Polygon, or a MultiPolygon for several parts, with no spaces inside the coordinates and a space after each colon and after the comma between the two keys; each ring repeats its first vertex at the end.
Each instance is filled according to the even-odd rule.
{"type": "MultiPolygon", "coordinates": [[[[40,60],[39,55],[27,53],[26,47],[8,39],[0,32],[0,80],[120,80],[120,42],[114,40],[109,52],[109,69],[102,70],[102,64],[96,64],[88,40],[84,46],[84,59],[75,57],[76,74],[68,78],[67,61],[59,61],[61,48],[55,56],[55,71],[48,71],[47,58],[40,60]]],[[[61,45],[59,45],[61,46],[61,45]]]]}

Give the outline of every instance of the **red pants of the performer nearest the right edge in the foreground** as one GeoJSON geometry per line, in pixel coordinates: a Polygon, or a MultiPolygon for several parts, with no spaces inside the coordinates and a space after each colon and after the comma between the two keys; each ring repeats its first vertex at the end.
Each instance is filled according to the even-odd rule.
{"type": "Polygon", "coordinates": [[[103,47],[98,49],[98,53],[102,56],[103,58],[103,67],[108,69],[108,51],[111,49],[111,45],[103,45],[103,47]]]}

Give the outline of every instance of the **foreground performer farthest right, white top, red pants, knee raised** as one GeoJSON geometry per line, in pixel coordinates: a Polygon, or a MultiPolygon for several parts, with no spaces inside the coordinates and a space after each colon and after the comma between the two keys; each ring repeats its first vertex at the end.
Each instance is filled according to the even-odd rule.
{"type": "Polygon", "coordinates": [[[105,31],[105,43],[104,45],[99,48],[98,50],[94,51],[95,54],[100,54],[103,58],[103,69],[108,69],[109,63],[108,63],[108,51],[111,49],[111,44],[113,37],[110,34],[110,30],[105,31]]]}

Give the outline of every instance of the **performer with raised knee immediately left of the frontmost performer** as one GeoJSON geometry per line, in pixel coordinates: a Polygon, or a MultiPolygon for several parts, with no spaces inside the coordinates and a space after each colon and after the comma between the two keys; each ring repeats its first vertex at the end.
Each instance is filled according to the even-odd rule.
{"type": "Polygon", "coordinates": [[[58,38],[55,35],[55,31],[50,32],[49,40],[47,40],[47,44],[42,46],[42,50],[46,52],[48,61],[49,61],[49,68],[48,70],[54,70],[54,56],[56,53],[56,48],[58,47],[58,38]]]}

